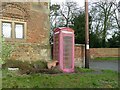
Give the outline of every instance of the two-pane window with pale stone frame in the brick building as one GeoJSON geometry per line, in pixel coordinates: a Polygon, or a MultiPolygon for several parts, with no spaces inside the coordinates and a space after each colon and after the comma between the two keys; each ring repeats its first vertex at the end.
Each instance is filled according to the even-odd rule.
{"type": "Polygon", "coordinates": [[[23,40],[26,38],[26,22],[1,20],[0,33],[5,39],[23,40]]]}

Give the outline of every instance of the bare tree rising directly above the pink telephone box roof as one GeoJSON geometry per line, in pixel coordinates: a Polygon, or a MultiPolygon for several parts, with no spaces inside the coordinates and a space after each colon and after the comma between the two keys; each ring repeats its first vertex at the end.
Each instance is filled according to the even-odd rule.
{"type": "Polygon", "coordinates": [[[80,8],[78,7],[76,2],[66,2],[62,4],[60,8],[60,14],[64,18],[65,25],[68,27],[73,23],[73,18],[78,15],[80,12],[80,8]]]}

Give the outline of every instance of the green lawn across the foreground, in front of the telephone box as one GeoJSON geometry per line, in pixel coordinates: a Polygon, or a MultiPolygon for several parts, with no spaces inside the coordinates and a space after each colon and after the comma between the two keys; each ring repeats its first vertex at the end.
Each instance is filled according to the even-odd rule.
{"type": "Polygon", "coordinates": [[[3,70],[3,88],[117,88],[118,73],[77,69],[77,73],[17,75],[3,70]],[[89,72],[89,73],[88,73],[89,72]]]}

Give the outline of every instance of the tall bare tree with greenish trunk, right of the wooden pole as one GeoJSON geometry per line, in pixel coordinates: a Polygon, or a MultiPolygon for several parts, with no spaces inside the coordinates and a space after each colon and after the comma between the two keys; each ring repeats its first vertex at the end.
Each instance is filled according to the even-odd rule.
{"type": "Polygon", "coordinates": [[[95,2],[91,7],[92,29],[102,38],[102,46],[105,47],[108,31],[119,28],[116,0],[95,2]]]}

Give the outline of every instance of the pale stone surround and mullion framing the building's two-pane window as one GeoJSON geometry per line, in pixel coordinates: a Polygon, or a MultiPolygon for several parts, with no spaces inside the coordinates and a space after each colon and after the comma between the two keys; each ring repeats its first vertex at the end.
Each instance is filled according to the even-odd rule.
{"type": "Polygon", "coordinates": [[[2,22],[8,22],[12,24],[12,36],[11,38],[5,38],[5,41],[26,41],[26,31],[27,31],[27,23],[24,21],[19,20],[7,20],[7,19],[0,19],[0,36],[2,36],[2,22]],[[15,24],[23,24],[24,31],[23,31],[23,37],[24,38],[15,38],[15,24]]]}

